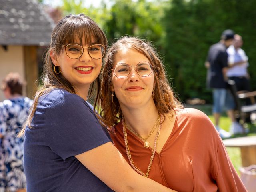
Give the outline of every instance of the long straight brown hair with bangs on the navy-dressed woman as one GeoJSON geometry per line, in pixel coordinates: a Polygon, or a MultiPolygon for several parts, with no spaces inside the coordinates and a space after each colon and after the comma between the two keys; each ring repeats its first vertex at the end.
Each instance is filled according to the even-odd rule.
{"type": "MultiPolygon", "coordinates": [[[[104,32],[99,26],[88,16],[84,14],[68,15],[62,18],[52,31],[51,43],[44,58],[44,71],[42,74],[43,86],[36,92],[34,96],[34,103],[30,108],[30,114],[24,124],[19,136],[24,134],[26,126],[31,128],[31,121],[38,105],[38,99],[40,96],[48,93],[53,88],[63,88],[70,93],[75,93],[75,90],[70,82],[60,73],[54,72],[54,64],[51,60],[50,53],[54,50],[54,54],[59,55],[64,51],[62,45],[68,43],[74,43],[79,39],[80,44],[98,43],[107,46],[107,39],[104,32]],[[86,42],[82,42],[82,39],[86,42]],[[92,42],[93,41],[93,42],[92,42]]],[[[76,42],[78,43],[78,42],[76,42]]],[[[92,93],[96,90],[96,99],[100,95],[100,82],[101,75],[92,83],[90,87],[89,97],[93,96],[92,93]]]]}

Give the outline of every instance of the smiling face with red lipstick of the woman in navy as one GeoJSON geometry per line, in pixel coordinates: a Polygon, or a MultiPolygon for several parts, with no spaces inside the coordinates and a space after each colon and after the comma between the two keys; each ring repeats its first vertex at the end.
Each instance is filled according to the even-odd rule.
{"type": "MultiPolygon", "coordinates": [[[[82,42],[85,42],[84,38],[82,42]]],[[[73,42],[72,42],[73,43],[73,42]]],[[[80,44],[79,41],[76,44],[80,44]]],[[[81,44],[83,47],[90,47],[92,44],[81,44]]],[[[101,70],[102,58],[93,59],[88,54],[87,48],[80,58],[69,58],[65,52],[65,48],[60,54],[53,56],[52,62],[60,67],[61,74],[72,84],[78,92],[89,90],[90,84],[98,77],[101,70]]]]}

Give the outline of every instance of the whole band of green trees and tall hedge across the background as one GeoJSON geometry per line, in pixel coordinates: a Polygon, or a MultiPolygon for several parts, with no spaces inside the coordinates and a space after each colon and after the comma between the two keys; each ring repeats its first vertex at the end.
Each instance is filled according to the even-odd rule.
{"type": "MultiPolygon", "coordinates": [[[[43,0],[41,0],[43,1],[43,0]]],[[[84,0],[62,0],[64,15],[84,13],[94,19],[111,44],[124,35],[150,40],[160,51],[170,82],[182,100],[211,102],[204,62],[210,45],[227,28],[244,39],[252,90],[256,90],[255,0],[101,0],[87,7],[84,0]]]]}

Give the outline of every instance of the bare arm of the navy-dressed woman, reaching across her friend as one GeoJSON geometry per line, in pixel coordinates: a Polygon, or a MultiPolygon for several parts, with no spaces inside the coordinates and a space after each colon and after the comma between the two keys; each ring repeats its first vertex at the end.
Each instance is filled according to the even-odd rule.
{"type": "Polygon", "coordinates": [[[111,142],[75,157],[114,191],[175,192],[136,173],[111,142]]]}

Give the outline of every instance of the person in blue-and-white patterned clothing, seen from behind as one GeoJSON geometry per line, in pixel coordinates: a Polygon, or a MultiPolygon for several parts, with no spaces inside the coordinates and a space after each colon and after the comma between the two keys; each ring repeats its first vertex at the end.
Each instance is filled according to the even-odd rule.
{"type": "Polygon", "coordinates": [[[26,191],[23,169],[23,138],[17,138],[28,115],[32,100],[22,96],[18,73],[9,73],[1,89],[6,100],[0,102],[0,192],[26,191]]]}

